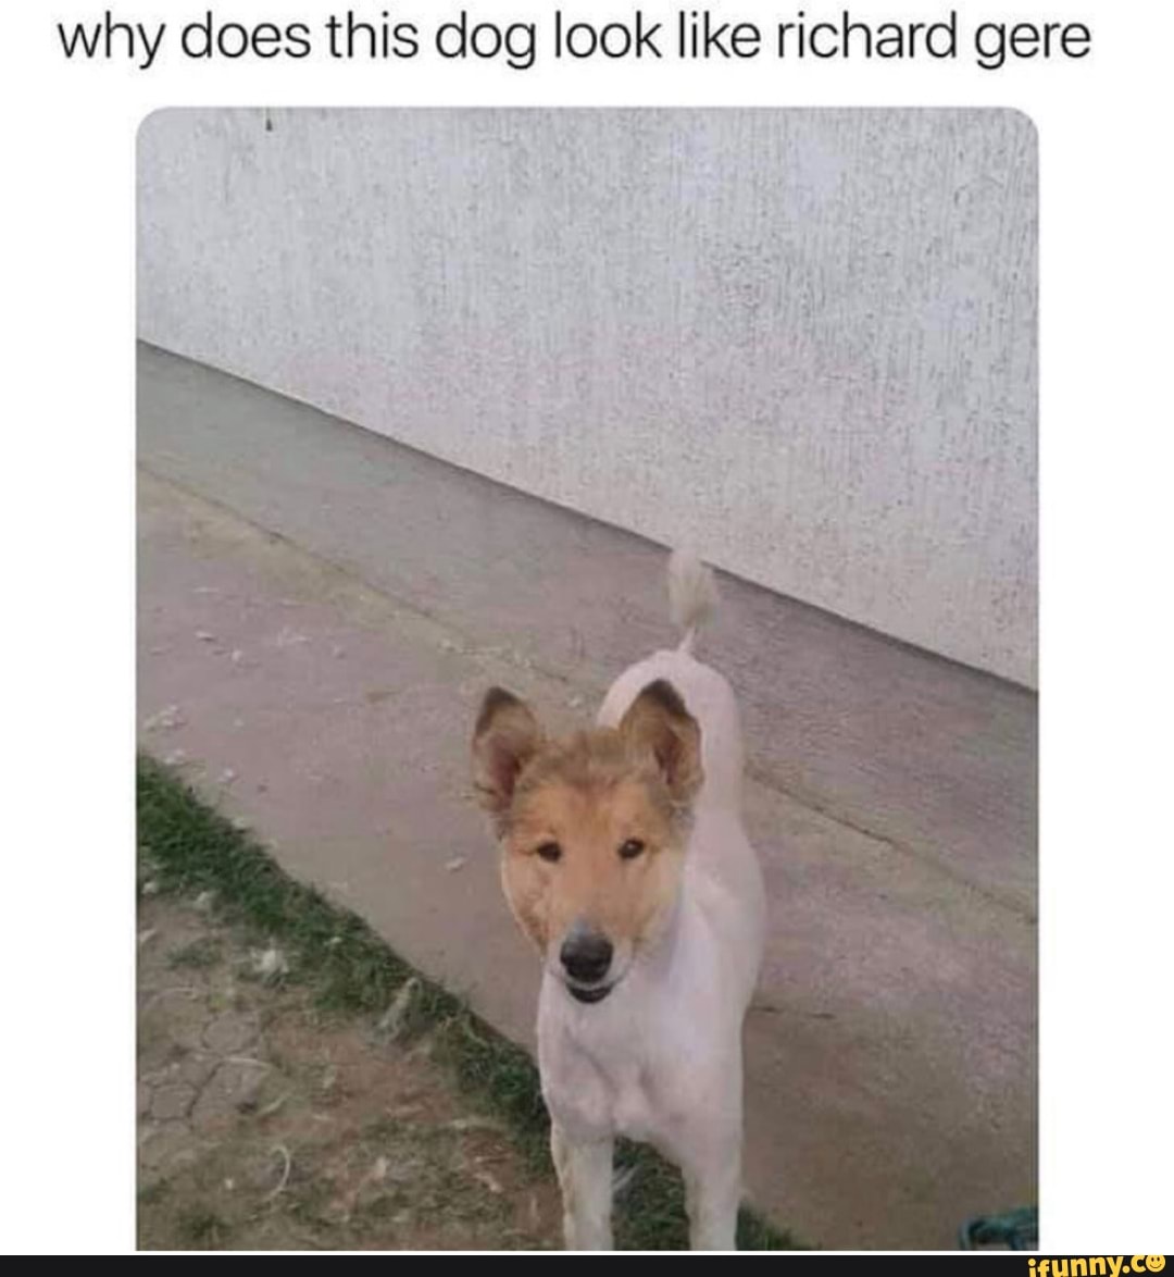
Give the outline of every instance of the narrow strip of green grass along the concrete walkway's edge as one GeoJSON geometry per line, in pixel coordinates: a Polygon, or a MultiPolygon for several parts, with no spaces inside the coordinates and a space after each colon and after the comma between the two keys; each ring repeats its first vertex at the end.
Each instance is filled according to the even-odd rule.
{"type": "MultiPolygon", "coordinates": [[[[521,1047],[392,953],[361,918],[287,877],[248,834],[144,756],[138,764],[138,831],[143,872],[157,890],[212,893],[219,917],[282,948],[290,963],[286,978],[310,988],[322,1008],[378,1016],[415,977],[420,987],[403,1034],[431,1033],[436,1059],[459,1088],[504,1119],[531,1165],[549,1171],[549,1119],[537,1069],[521,1047]]],[[[616,1200],[616,1245],[684,1249],[688,1223],[676,1170],[652,1149],[627,1142],[619,1145],[616,1165],[634,1167],[616,1200]]],[[[208,1228],[197,1231],[207,1235],[208,1228]]],[[[738,1245],[799,1249],[789,1234],[745,1209],[738,1245]]]]}

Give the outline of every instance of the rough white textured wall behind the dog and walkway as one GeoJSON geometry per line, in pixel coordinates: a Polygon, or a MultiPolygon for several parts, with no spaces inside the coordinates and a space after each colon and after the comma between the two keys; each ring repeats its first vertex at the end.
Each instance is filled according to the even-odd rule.
{"type": "Polygon", "coordinates": [[[156,114],[139,333],[1035,681],[1016,112],[156,114]]]}

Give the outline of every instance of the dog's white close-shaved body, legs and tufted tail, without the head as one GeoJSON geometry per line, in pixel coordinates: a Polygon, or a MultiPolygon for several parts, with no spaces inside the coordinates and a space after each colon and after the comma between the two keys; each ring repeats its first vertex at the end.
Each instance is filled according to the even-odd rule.
{"type": "Polygon", "coordinates": [[[766,902],[741,822],[743,747],[729,683],[690,654],[716,600],[688,555],[670,568],[681,646],[613,684],[598,722],[615,727],[655,679],[672,684],[701,727],[704,782],[694,801],[683,884],[660,944],[601,1002],[574,1001],[545,974],[539,1064],[553,1121],[567,1245],[611,1246],[613,1144],[656,1145],[685,1176],[690,1245],[731,1250],[741,1197],[741,1028],[762,959],[766,902]]]}

